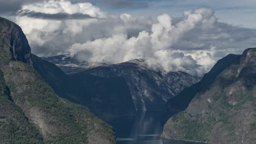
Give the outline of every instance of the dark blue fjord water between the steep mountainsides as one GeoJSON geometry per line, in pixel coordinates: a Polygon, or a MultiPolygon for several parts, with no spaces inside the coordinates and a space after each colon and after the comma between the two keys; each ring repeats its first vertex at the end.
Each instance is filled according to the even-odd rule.
{"type": "MultiPolygon", "coordinates": [[[[161,139],[161,111],[141,111],[136,116],[112,119],[118,144],[192,144],[193,142],[161,139]]],[[[197,143],[198,144],[198,143],[197,143]]]]}

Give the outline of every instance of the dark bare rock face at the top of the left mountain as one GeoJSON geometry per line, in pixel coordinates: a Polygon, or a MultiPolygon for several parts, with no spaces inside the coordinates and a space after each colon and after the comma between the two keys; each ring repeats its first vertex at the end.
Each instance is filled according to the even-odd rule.
{"type": "Polygon", "coordinates": [[[1,57],[21,61],[32,66],[31,49],[25,34],[15,23],[0,17],[1,57]]]}

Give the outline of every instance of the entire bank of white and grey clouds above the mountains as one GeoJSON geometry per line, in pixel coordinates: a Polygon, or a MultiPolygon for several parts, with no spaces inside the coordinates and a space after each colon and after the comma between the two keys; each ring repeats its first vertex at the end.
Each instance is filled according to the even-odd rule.
{"type": "Polygon", "coordinates": [[[212,9],[135,17],[109,15],[88,2],[52,0],[24,4],[19,12],[15,21],[39,56],[70,53],[108,63],[144,58],[151,68],[201,76],[217,59],[255,46],[255,29],[218,22],[212,9]]]}

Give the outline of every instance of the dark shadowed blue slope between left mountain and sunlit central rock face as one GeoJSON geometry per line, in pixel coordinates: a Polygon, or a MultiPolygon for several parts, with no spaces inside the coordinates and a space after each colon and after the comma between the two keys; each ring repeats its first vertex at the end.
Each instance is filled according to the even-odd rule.
{"type": "Polygon", "coordinates": [[[108,122],[119,116],[135,115],[129,87],[121,77],[98,77],[89,74],[66,75],[55,64],[32,55],[34,69],[50,83],[62,98],[88,106],[108,122]]]}

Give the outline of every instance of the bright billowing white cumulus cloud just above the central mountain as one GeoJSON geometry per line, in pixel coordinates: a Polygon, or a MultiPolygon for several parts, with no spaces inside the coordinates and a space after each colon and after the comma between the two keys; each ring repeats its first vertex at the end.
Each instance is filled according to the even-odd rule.
{"type": "Polygon", "coordinates": [[[118,63],[144,58],[150,67],[161,65],[167,71],[182,70],[200,75],[214,64],[214,53],[210,50],[190,52],[175,50],[172,49],[172,45],[199,23],[211,24],[207,20],[211,20],[212,17],[213,11],[209,9],[198,9],[194,12],[188,10],[184,12],[182,21],[172,25],[172,18],[164,14],[157,17],[158,22],[152,25],[150,32],[142,31],[137,37],[131,38],[118,34],[110,38],[86,41],[84,44],[73,44],[68,51],[71,56],[76,55],[81,58],[82,56],[79,55],[83,55],[83,60],[88,62],[118,63]]]}

